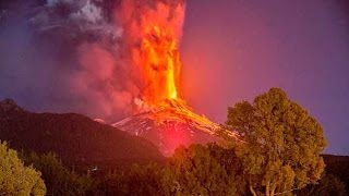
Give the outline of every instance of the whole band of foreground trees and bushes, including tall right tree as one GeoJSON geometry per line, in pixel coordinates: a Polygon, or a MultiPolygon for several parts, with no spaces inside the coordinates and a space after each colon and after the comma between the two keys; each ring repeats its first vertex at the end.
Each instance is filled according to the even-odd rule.
{"type": "Polygon", "coordinates": [[[225,126],[239,132],[243,142],[222,134],[224,144],[179,147],[164,163],[109,170],[67,168],[53,154],[22,152],[21,161],[1,144],[1,187],[33,181],[25,183],[27,188],[0,188],[0,195],[346,194],[345,179],[333,169],[324,172],[321,125],[281,89],[229,108],[225,126]]]}

